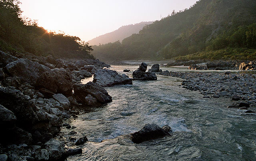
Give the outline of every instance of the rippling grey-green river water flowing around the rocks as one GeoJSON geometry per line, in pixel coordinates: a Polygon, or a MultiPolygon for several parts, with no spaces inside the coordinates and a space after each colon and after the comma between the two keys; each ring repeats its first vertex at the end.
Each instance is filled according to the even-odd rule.
{"type": "MultiPolygon", "coordinates": [[[[111,67],[119,73],[137,68],[111,67]]],[[[256,160],[256,115],[226,108],[232,104],[229,98],[202,98],[198,91],[178,86],[182,79],[157,76],[158,81],[108,87],[113,102],[81,110],[77,119],[68,120],[77,127],[76,138],[87,135],[89,140],[80,145],[81,155],[68,160],[256,160]],[[169,125],[172,136],[132,143],[129,134],[152,123],[169,125]]],[[[68,137],[68,132],[63,128],[62,134],[68,137]]]]}

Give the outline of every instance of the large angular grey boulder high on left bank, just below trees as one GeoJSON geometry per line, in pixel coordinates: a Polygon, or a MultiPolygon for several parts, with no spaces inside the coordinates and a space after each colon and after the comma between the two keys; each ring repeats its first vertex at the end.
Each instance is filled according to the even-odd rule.
{"type": "Polygon", "coordinates": [[[28,59],[18,59],[6,65],[6,70],[11,76],[19,77],[22,82],[28,82],[33,86],[41,73],[50,71],[50,68],[28,59]]]}

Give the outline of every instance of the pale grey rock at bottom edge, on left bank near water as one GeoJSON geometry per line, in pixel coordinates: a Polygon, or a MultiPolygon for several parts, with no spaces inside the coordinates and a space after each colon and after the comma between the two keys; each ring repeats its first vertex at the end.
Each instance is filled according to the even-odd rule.
{"type": "Polygon", "coordinates": [[[45,144],[50,160],[58,160],[65,152],[65,144],[61,141],[50,139],[45,144]]]}

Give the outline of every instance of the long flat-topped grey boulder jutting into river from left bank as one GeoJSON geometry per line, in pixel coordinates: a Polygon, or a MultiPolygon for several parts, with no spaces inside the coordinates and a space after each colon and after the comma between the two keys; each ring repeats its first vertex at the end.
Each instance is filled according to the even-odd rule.
{"type": "Polygon", "coordinates": [[[132,84],[132,79],[125,74],[120,75],[116,71],[109,69],[98,69],[94,74],[93,82],[100,86],[106,87],[117,84],[132,84]]]}

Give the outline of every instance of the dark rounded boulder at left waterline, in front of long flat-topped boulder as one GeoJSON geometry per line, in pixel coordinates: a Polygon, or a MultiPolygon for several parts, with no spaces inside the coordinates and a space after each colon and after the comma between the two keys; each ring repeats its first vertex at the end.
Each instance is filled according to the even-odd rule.
{"type": "MultiPolygon", "coordinates": [[[[84,105],[89,105],[86,97],[93,97],[96,99],[96,105],[106,104],[108,102],[112,102],[112,97],[108,94],[108,92],[98,84],[93,82],[88,82],[86,84],[74,84],[74,98],[76,98],[78,103],[82,103],[84,105]]],[[[95,100],[94,99],[94,100],[95,100]]],[[[92,106],[91,104],[89,106],[92,106]]]]}

